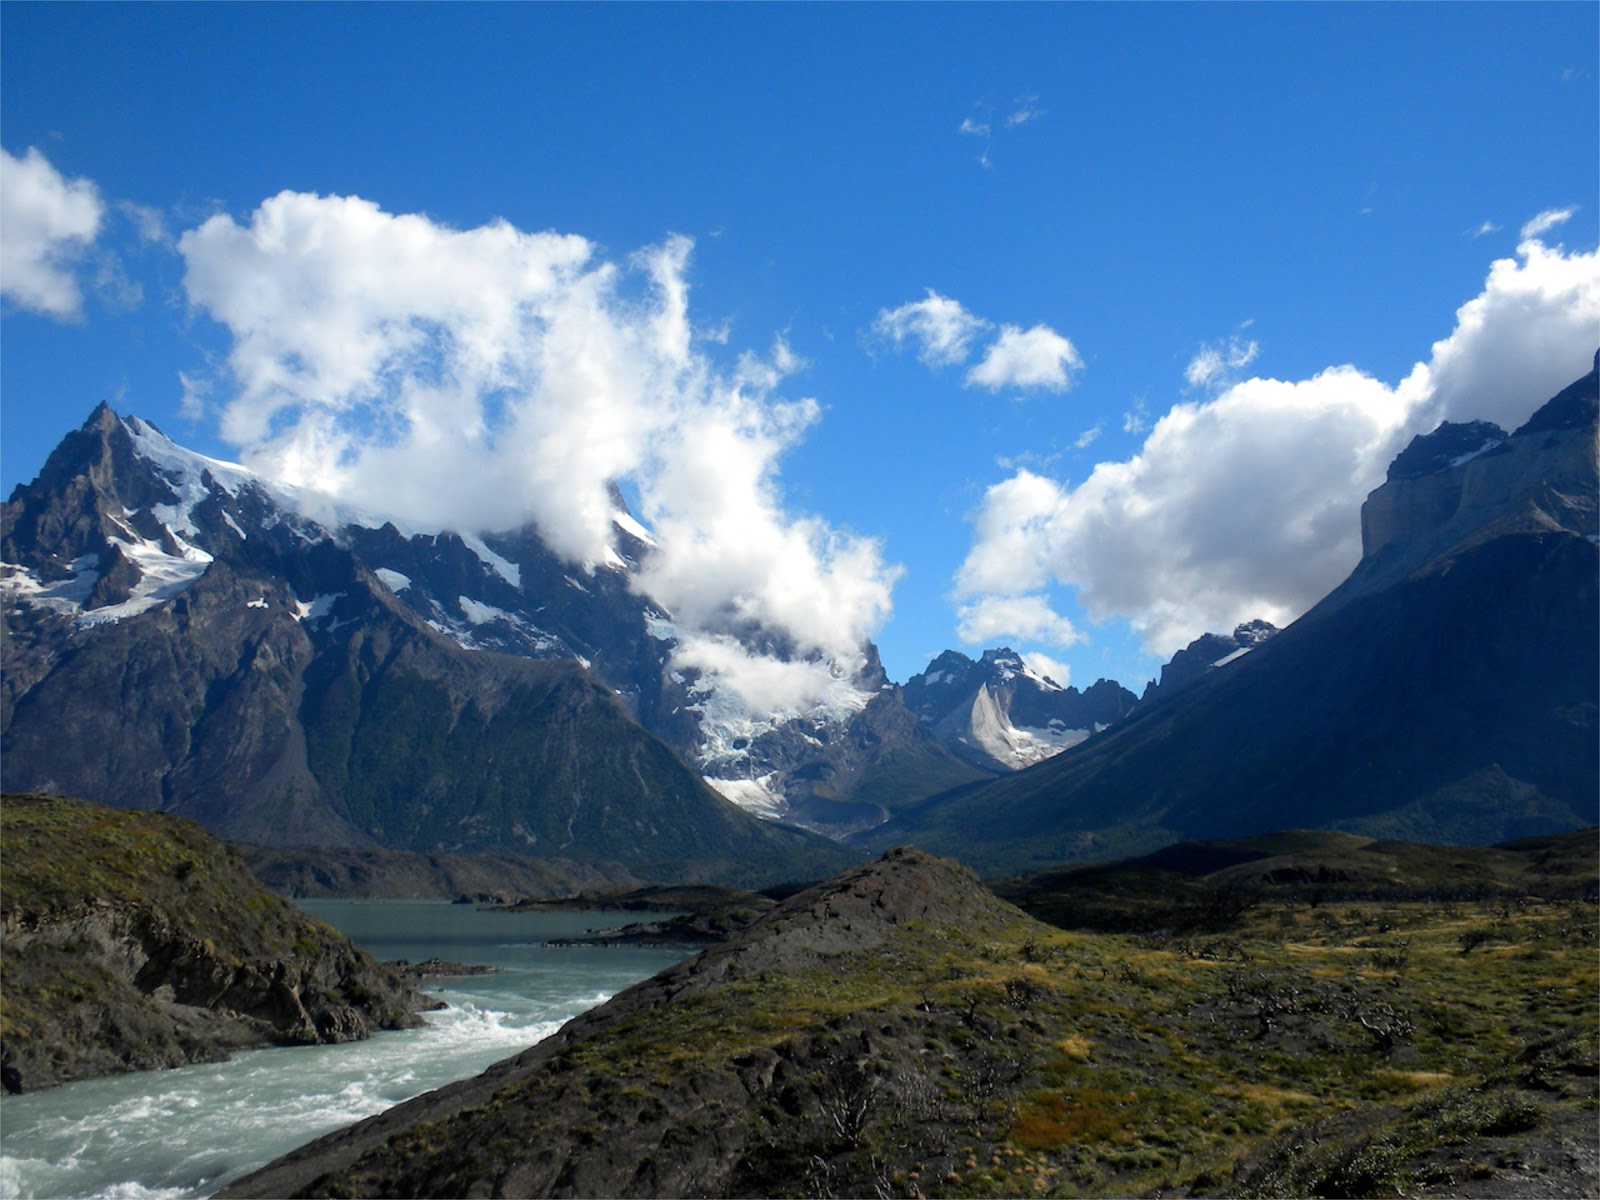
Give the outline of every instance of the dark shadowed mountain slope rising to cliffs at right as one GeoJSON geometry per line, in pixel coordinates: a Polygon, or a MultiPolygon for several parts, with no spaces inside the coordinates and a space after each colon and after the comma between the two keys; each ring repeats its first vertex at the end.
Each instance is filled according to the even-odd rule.
{"type": "Polygon", "coordinates": [[[1590,373],[1552,402],[1584,424],[1547,405],[1499,453],[1379,488],[1350,579],[1250,654],[874,837],[1026,870],[1282,826],[1488,843],[1594,824],[1594,392],[1590,373]]]}

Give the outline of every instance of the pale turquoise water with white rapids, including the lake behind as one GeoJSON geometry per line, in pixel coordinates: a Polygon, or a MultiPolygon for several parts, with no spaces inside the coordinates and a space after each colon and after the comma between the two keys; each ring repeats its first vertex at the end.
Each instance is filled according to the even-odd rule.
{"type": "Polygon", "coordinates": [[[422,901],[301,901],[376,958],[453,958],[498,974],[429,981],[424,1029],[338,1046],[251,1050],[0,1098],[0,1197],[210,1195],[312,1138],[474,1075],[683,957],[558,949],[637,914],[502,914],[422,901]]]}

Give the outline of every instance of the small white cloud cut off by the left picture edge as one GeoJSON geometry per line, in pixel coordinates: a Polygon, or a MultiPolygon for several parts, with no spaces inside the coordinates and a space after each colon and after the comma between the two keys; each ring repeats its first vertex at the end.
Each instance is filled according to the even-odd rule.
{"type": "Polygon", "coordinates": [[[106,216],[88,179],[64,179],[35,147],[0,149],[0,294],[58,320],[83,310],[72,275],[106,216]]]}

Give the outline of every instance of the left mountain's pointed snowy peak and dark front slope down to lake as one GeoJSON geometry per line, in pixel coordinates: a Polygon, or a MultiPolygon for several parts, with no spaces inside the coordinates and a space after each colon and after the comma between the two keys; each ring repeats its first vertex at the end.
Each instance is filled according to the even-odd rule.
{"type": "Polygon", "coordinates": [[[838,864],[715,795],[579,664],[462,648],[264,485],[181,453],[101,410],[5,506],[8,789],[280,845],[838,864]]]}

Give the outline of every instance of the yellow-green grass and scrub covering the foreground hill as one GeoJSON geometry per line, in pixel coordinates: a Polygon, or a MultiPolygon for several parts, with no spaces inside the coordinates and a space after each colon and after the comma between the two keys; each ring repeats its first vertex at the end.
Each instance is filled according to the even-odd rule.
{"type": "Polygon", "coordinates": [[[635,1013],[389,1154],[472,1144],[408,1176],[461,1189],[654,1122],[739,1130],[712,1194],[1400,1194],[1442,1147],[1595,1110],[1595,938],[1594,904],[1526,898],[1280,898],[1210,936],[914,922],[635,1013]]]}

